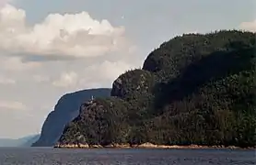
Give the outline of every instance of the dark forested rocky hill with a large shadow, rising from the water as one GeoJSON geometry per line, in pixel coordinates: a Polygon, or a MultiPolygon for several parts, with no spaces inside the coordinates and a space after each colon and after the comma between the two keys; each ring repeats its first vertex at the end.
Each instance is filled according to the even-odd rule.
{"type": "Polygon", "coordinates": [[[255,147],[255,33],[171,38],[112,84],[111,98],[80,106],[60,145],[255,147]]]}

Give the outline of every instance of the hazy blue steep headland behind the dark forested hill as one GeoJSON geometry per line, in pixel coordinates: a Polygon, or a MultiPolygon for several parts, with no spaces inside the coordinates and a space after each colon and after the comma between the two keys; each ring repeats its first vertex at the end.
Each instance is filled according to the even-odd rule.
{"type": "Polygon", "coordinates": [[[89,89],[76,93],[64,94],[46,118],[41,128],[41,137],[33,147],[51,147],[62,135],[64,126],[79,114],[82,103],[94,97],[109,97],[111,89],[89,89]]]}

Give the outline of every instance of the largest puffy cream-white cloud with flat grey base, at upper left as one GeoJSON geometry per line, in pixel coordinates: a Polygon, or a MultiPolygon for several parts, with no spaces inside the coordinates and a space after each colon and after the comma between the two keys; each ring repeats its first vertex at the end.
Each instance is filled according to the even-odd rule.
{"type": "Polygon", "coordinates": [[[129,49],[124,28],[93,19],[87,12],[50,14],[30,27],[26,12],[11,5],[0,9],[0,17],[0,49],[25,61],[99,57],[129,49]]]}

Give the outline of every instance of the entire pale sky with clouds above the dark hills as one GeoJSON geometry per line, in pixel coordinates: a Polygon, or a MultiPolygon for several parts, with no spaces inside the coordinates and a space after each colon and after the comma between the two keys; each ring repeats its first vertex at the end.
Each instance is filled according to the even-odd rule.
{"type": "Polygon", "coordinates": [[[64,93],[111,87],[183,33],[256,31],[255,0],[0,0],[0,137],[41,132],[64,93]]]}

